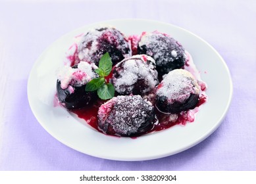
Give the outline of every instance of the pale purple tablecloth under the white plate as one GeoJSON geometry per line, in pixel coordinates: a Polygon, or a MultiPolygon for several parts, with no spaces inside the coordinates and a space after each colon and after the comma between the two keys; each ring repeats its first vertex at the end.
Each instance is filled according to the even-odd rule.
{"type": "Polygon", "coordinates": [[[0,1],[0,170],[256,170],[255,19],[253,0],[0,1]],[[70,149],[40,126],[26,89],[38,56],[71,30],[116,18],[175,24],[222,55],[234,94],[226,118],[205,141],[166,158],[120,162],[70,149]]]}

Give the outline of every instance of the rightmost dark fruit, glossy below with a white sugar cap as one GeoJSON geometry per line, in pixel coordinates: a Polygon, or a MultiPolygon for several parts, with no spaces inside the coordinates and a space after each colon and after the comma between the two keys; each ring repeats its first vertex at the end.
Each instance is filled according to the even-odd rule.
{"type": "Polygon", "coordinates": [[[157,86],[155,105],[165,113],[193,109],[199,101],[199,91],[199,85],[190,72],[172,70],[157,86]]]}

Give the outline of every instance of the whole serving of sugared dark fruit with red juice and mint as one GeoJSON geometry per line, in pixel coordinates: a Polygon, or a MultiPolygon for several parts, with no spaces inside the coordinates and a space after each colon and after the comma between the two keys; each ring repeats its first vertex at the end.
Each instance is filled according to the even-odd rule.
{"type": "Polygon", "coordinates": [[[76,39],[57,70],[57,98],[101,133],[138,137],[185,125],[207,101],[191,55],[166,33],[103,26],[76,39]]]}

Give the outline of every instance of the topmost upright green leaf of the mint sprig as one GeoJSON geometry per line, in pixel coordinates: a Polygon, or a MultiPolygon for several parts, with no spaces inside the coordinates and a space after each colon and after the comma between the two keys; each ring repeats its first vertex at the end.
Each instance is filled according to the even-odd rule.
{"type": "Polygon", "coordinates": [[[112,61],[109,53],[105,53],[99,60],[99,68],[95,70],[101,77],[109,76],[112,70],[112,61]]]}

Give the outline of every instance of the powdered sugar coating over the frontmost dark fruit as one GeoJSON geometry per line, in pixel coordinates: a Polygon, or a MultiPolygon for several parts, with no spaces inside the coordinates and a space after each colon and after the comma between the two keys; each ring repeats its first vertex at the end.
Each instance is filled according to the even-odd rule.
{"type": "Polygon", "coordinates": [[[146,131],[152,125],[153,106],[140,95],[117,96],[101,105],[99,127],[108,133],[109,126],[116,135],[132,135],[146,131]],[[144,127],[143,124],[146,124],[144,127]],[[140,129],[140,127],[143,129],[140,129]]]}

